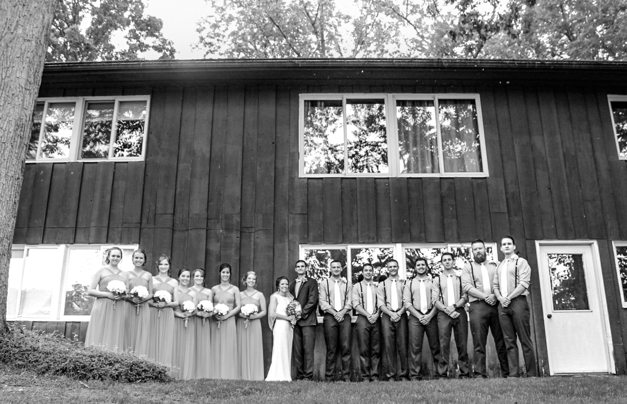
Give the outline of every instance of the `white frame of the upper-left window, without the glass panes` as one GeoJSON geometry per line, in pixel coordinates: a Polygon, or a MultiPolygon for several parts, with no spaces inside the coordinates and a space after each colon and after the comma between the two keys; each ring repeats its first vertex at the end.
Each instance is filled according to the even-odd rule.
{"type": "Polygon", "coordinates": [[[37,149],[34,159],[26,159],[26,164],[30,163],[61,163],[65,161],[83,161],[87,163],[97,163],[99,161],[144,161],[146,155],[146,142],[148,138],[148,126],[150,121],[150,96],[89,96],[89,97],[43,97],[37,98],[36,103],[44,103],[43,115],[41,118],[41,128],[37,149]],[[83,146],[83,129],[85,128],[85,114],[87,113],[87,104],[93,101],[113,101],[113,119],[112,131],[109,139],[109,157],[108,158],[81,158],[83,146]],[[124,101],[146,101],[146,117],[144,123],[144,135],[142,138],[142,154],[137,157],[113,157],[113,143],[117,136],[117,111],[120,102],[124,101]],[[41,143],[43,141],[43,133],[45,131],[46,113],[48,112],[48,104],[50,103],[75,103],[74,107],[74,124],[72,126],[72,134],[70,138],[70,151],[66,158],[43,158],[40,157],[41,143]],[[78,124],[77,124],[78,123],[78,124]]]}

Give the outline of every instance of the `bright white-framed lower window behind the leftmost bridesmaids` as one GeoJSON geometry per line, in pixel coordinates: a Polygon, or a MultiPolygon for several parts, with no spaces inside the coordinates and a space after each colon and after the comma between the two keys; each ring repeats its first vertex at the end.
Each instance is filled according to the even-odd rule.
{"type": "MultiPolygon", "coordinates": [[[[105,266],[113,245],[14,245],[9,264],[7,320],[88,321],[95,298],[87,295],[93,274],[105,266]]],[[[137,245],[122,248],[119,268],[133,268],[137,245]]]]}

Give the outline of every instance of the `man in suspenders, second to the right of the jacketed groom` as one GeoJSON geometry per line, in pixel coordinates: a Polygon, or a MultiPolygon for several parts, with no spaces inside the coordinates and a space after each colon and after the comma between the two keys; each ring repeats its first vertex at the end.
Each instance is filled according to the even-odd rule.
{"type": "Polygon", "coordinates": [[[357,311],[357,343],[359,343],[359,362],[362,381],[379,380],[379,333],[381,326],[377,307],[377,283],[372,281],[374,268],[371,263],[364,264],[364,280],[353,285],[352,305],[357,311]]]}

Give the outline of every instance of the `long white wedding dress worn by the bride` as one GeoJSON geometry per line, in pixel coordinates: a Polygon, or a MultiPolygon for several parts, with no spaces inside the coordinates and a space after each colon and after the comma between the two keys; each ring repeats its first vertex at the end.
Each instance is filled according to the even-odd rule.
{"type": "MultiPolygon", "coordinates": [[[[287,316],[285,310],[292,298],[273,295],[270,299],[277,299],[277,314],[287,316]]],[[[271,304],[271,303],[270,303],[271,304]]],[[[290,321],[277,318],[272,328],[273,346],[272,363],[268,370],[268,381],[292,380],[292,338],[294,330],[290,321]]]]}

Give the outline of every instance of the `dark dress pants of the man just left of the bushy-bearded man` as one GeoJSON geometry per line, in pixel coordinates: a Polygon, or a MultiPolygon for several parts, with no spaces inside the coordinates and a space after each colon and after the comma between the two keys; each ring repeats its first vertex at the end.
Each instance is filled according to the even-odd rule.
{"type": "Polygon", "coordinates": [[[448,377],[448,358],[451,352],[451,331],[455,335],[455,346],[457,347],[457,364],[460,368],[460,378],[470,377],[468,366],[468,316],[463,307],[458,307],[460,315],[451,318],[444,311],[438,311],[438,331],[440,331],[440,352],[442,358],[438,363],[436,377],[448,377]]]}

